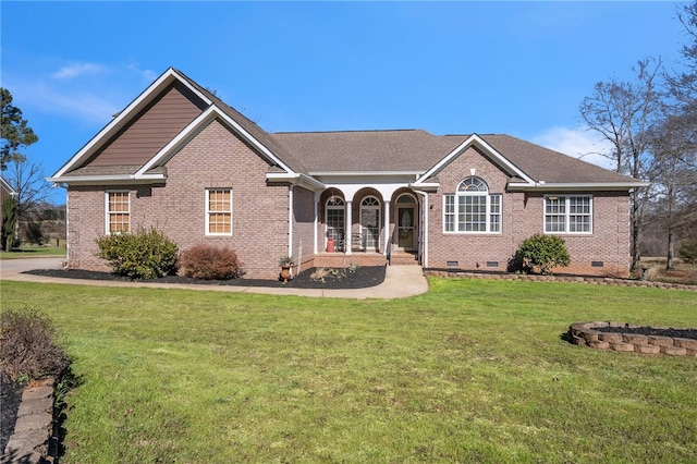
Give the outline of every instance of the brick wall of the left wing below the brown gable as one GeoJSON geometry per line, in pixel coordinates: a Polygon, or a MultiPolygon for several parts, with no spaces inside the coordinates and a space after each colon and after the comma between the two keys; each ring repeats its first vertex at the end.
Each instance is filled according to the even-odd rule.
{"type": "MultiPolygon", "coordinates": [[[[133,231],[155,227],[180,251],[197,244],[227,246],[244,262],[245,277],[278,277],[278,258],[288,253],[289,186],[267,185],[268,168],[266,160],[213,121],[167,162],[164,185],[71,186],[69,267],[109,269],[108,262],[95,257],[95,239],[106,229],[105,192],[129,190],[133,231]],[[232,236],[205,234],[207,187],[232,188],[232,236]]],[[[306,196],[301,188],[296,195],[306,196]]],[[[306,220],[301,215],[301,224],[306,220]]],[[[301,232],[295,239],[305,242],[306,235],[301,232]]]]}

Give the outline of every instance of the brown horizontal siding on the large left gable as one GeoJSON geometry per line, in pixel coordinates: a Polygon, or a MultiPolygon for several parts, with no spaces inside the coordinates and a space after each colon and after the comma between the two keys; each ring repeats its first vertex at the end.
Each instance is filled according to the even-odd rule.
{"type": "Polygon", "coordinates": [[[178,82],[112,137],[86,166],[143,166],[204,108],[204,102],[178,82]]]}

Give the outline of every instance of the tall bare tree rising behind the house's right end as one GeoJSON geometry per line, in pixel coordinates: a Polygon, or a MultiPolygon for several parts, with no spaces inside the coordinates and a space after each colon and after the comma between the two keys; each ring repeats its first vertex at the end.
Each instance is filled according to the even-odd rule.
{"type": "MultiPolygon", "coordinates": [[[[649,150],[650,134],[660,120],[662,93],[659,87],[661,60],[647,58],[633,68],[635,82],[599,82],[591,96],[584,98],[580,115],[588,127],[612,144],[612,152],[603,154],[615,163],[619,173],[634,179],[647,179],[653,162],[649,150]]],[[[636,269],[640,254],[644,206],[648,188],[631,193],[632,268],[636,269]]]]}

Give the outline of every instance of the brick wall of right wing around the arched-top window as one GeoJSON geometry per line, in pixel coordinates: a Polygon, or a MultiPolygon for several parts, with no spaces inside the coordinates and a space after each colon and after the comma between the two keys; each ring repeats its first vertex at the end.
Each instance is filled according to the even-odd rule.
{"type": "MultiPolygon", "coordinates": [[[[519,243],[535,233],[543,233],[543,195],[506,192],[508,175],[476,148],[453,160],[438,173],[438,192],[428,195],[429,268],[505,271],[519,243]],[[472,172],[488,184],[489,193],[503,194],[501,233],[443,232],[443,195],[455,193],[460,182],[472,172]],[[449,266],[449,261],[456,265],[449,266]],[[496,266],[488,266],[494,262],[496,266]]],[[[592,234],[560,234],[571,255],[571,266],[555,271],[626,277],[628,208],[627,193],[592,193],[592,234]],[[594,267],[592,261],[602,261],[602,267],[594,267]]]]}

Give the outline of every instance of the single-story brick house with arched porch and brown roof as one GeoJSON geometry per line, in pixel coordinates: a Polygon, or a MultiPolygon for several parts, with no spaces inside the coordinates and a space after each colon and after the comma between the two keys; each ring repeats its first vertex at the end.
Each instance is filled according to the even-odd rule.
{"type": "Polygon", "coordinates": [[[565,271],[626,276],[646,185],[508,135],[269,133],[175,69],[48,180],[68,188],[70,268],[108,269],[95,239],[155,227],[270,279],[281,255],[505,271],[535,233],[565,240],[565,271]]]}

